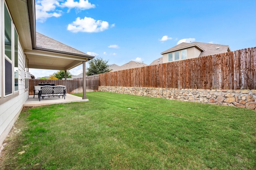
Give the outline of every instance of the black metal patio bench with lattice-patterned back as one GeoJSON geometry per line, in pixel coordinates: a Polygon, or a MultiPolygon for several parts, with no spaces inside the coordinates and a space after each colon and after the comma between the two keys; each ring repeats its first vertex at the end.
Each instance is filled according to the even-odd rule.
{"type": "Polygon", "coordinates": [[[44,99],[44,97],[50,97],[50,96],[66,96],[66,89],[65,86],[41,86],[41,89],[39,90],[38,98],[39,101],[41,101],[41,97],[44,99]]]}

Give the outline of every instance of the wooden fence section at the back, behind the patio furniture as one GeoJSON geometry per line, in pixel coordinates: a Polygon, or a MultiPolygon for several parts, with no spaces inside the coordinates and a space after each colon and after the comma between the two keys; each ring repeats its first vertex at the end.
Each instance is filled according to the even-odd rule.
{"type": "MultiPolygon", "coordinates": [[[[83,79],[78,80],[66,80],[66,92],[73,93],[82,93],[83,92],[83,79]]],[[[38,85],[38,83],[54,83],[57,85],[64,85],[65,80],[39,80],[39,79],[30,79],[29,80],[29,95],[34,94],[34,86],[38,85]]],[[[99,79],[87,79],[86,80],[86,92],[94,92],[98,91],[99,87],[99,79]]]]}

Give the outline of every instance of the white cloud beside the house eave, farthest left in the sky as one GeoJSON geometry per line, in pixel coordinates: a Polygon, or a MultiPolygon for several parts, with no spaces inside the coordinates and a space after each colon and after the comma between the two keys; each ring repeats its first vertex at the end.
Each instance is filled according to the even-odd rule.
{"type": "Polygon", "coordinates": [[[59,2],[56,0],[38,0],[36,2],[36,20],[44,22],[50,17],[60,17],[61,11],[54,12],[59,2]]]}

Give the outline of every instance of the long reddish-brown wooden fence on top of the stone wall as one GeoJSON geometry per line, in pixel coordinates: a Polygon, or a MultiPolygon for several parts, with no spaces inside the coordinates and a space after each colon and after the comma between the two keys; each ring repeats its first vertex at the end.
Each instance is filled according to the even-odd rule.
{"type": "Polygon", "coordinates": [[[256,89],[256,47],[108,72],[99,80],[100,86],[256,89]]]}

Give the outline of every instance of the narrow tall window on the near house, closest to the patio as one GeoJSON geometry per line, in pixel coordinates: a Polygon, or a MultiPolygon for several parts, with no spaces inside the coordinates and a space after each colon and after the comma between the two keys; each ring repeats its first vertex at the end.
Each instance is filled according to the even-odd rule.
{"type": "Polygon", "coordinates": [[[14,91],[19,90],[19,84],[18,84],[18,77],[19,77],[19,72],[18,72],[18,33],[16,29],[14,29],[14,91]]]}

